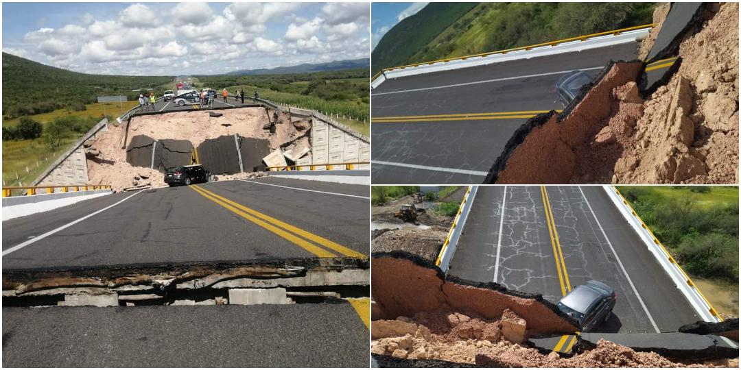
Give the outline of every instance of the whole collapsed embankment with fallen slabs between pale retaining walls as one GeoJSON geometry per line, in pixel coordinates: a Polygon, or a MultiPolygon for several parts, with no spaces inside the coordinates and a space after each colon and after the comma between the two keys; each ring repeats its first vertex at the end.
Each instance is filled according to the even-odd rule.
{"type": "Polygon", "coordinates": [[[34,184],[110,184],[113,191],[165,186],[168,168],[202,164],[247,178],[268,167],[368,166],[368,138],[318,112],[270,104],[144,112],[101,121],[34,184]],[[364,164],[365,163],[365,164],[364,164]]]}

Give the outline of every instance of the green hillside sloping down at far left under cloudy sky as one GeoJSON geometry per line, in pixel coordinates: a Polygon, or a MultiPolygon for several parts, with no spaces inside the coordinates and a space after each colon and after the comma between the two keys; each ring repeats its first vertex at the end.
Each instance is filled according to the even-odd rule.
{"type": "Polygon", "coordinates": [[[93,103],[102,95],[127,95],[133,100],[139,95],[139,89],[154,89],[159,92],[165,90],[162,85],[174,81],[174,76],[77,73],[8,53],[2,53],[2,74],[4,119],[62,108],[84,110],[84,104],[93,103]]]}

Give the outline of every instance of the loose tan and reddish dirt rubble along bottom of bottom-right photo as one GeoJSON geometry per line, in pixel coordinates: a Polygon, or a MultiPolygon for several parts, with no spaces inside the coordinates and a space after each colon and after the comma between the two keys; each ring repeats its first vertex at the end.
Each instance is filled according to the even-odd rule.
{"type": "Polygon", "coordinates": [[[677,363],[654,352],[637,352],[607,340],[564,358],[523,346],[528,323],[511,310],[499,320],[458,312],[420,312],[371,323],[371,353],[409,360],[443,360],[492,368],[735,367],[738,360],[677,363]]]}

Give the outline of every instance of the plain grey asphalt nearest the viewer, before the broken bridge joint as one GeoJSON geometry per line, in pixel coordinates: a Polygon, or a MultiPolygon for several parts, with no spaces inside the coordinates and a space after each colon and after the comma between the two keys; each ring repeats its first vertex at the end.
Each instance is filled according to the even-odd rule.
{"type": "Polygon", "coordinates": [[[349,303],[2,309],[4,367],[368,367],[349,303]]]}

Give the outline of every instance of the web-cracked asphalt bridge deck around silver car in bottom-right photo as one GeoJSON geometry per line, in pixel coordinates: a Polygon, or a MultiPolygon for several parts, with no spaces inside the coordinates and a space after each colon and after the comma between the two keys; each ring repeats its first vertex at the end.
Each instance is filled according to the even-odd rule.
{"type": "Polygon", "coordinates": [[[542,186],[479,186],[448,274],[553,303],[579,284],[602,281],[617,292],[617,304],[594,332],[676,332],[700,320],[602,186],[545,189],[544,196],[542,186]]]}

